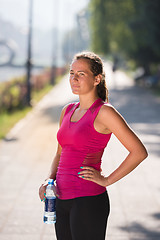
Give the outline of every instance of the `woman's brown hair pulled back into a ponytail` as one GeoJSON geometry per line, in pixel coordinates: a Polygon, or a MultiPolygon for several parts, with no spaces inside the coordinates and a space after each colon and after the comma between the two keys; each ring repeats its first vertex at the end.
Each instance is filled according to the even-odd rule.
{"type": "Polygon", "coordinates": [[[81,52],[74,56],[73,61],[85,59],[89,62],[90,70],[94,76],[102,75],[101,82],[97,85],[97,94],[103,100],[108,102],[108,89],[106,87],[105,73],[103,71],[103,62],[101,58],[93,52],[81,52]]]}

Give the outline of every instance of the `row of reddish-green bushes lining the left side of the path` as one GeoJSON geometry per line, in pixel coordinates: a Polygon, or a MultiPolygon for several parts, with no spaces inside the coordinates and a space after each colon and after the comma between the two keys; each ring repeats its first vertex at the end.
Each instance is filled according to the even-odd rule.
{"type": "MultiPolygon", "coordinates": [[[[63,75],[65,68],[54,69],[56,75],[63,75]]],[[[51,70],[44,70],[41,74],[33,75],[31,78],[31,89],[33,92],[40,91],[46,85],[50,84],[51,70]]],[[[16,109],[22,109],[26,106],[27,86],[26,77],[15,78],[8,82],[0,84],[0,113],[11,112],[16,109]]]]}

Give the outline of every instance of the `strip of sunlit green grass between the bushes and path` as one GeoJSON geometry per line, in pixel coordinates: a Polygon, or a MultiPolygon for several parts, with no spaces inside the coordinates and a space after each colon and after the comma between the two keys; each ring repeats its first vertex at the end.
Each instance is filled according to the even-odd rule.
{"type": "MultiPolygon", "coordinates": [[[[32,93],[32,101],[34,105],[38,103],[43,96],[45,96],[53,86],[48,85],[38,92],[32,93]]],[[[3,139],[11,128],[22,118],[24,118],[32,107],[25,107],[24,109],[18,109],[14,112],[4,112],[0,114],[0,139],[3,139]]]]}

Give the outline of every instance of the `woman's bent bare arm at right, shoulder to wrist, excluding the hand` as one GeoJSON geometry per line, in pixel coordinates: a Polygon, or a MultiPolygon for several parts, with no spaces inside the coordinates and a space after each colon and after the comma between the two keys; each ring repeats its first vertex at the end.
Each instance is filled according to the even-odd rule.
{"type": "Polygon", "coordinates": [[[140,139],[131,130],[123,117],[112,107],[108,109],[108,112],[110,117],[107,121],[107,127],[129,151],[121,165],[107,177],[107,185],[110,185],[133,171],[148,154],[140,139]]]}

